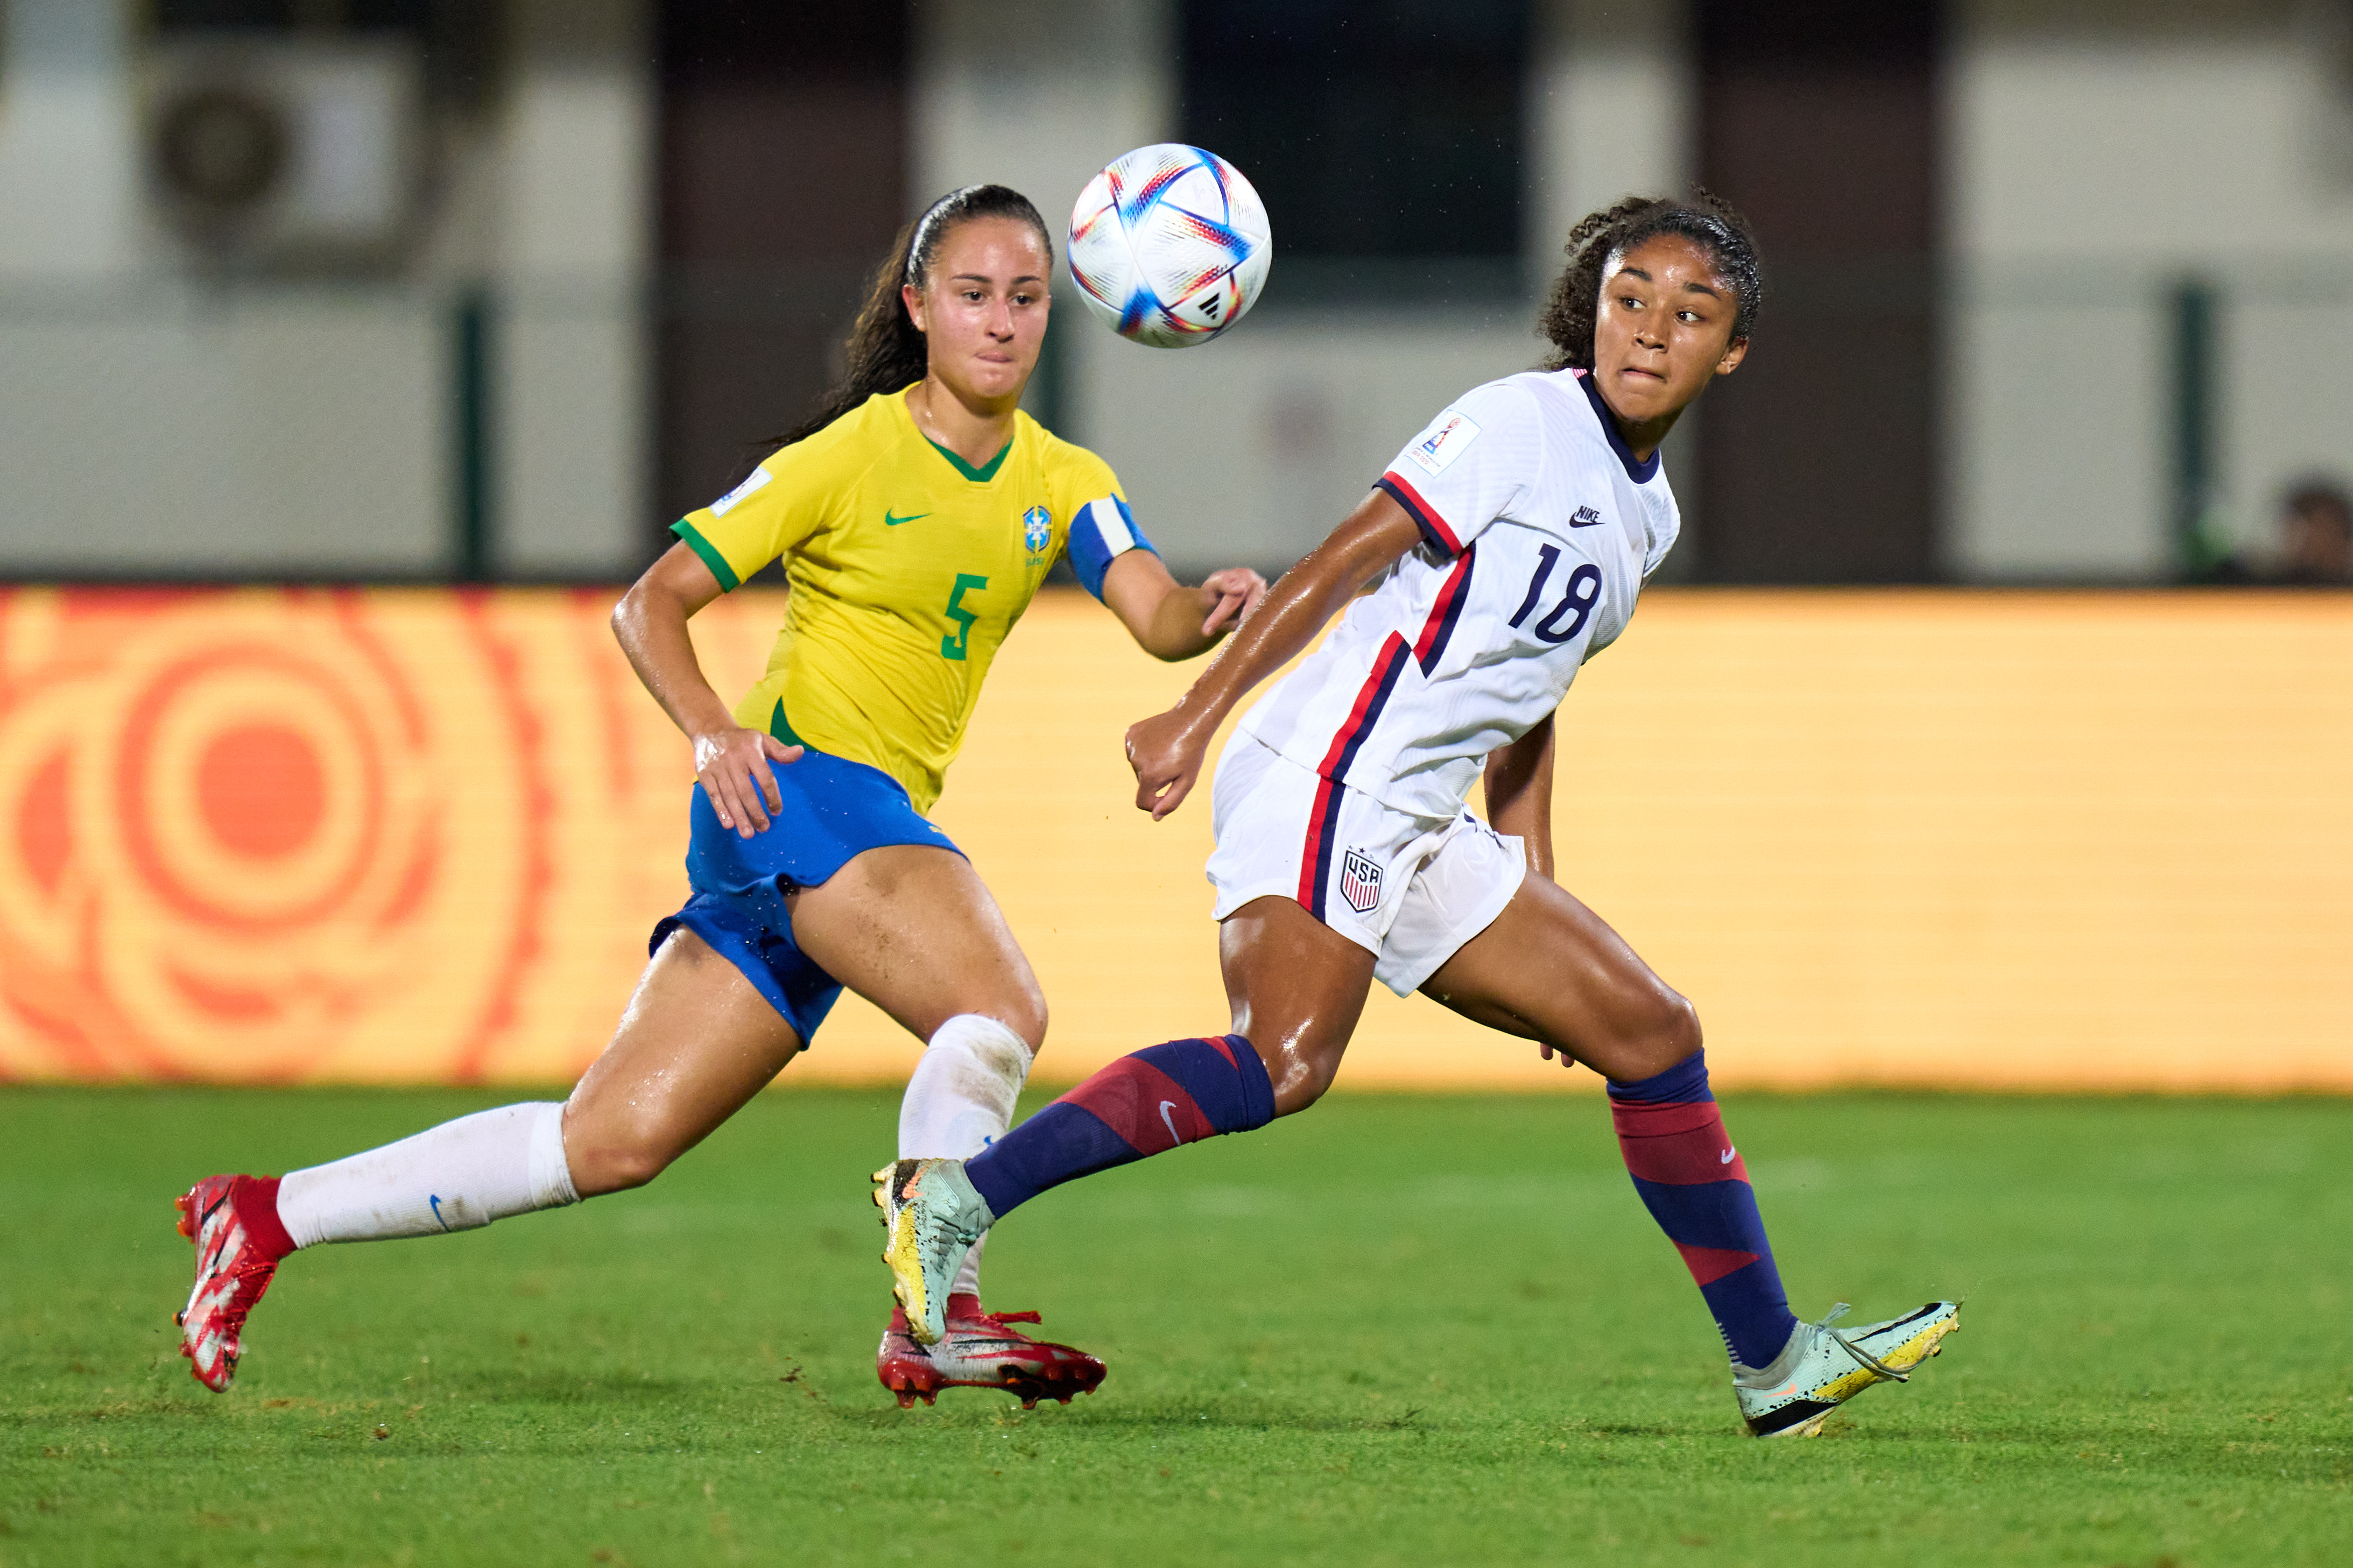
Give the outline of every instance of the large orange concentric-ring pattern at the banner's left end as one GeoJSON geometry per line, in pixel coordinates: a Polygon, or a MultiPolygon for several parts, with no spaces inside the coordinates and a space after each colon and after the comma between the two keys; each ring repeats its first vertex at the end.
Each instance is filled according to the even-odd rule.
{"type": "Polygon", "coordinates": [[[0,686],[0,1001],[73,1074],[464,1077],[529,947],[532,724],[449,595],[64,595],[0,686]]]}

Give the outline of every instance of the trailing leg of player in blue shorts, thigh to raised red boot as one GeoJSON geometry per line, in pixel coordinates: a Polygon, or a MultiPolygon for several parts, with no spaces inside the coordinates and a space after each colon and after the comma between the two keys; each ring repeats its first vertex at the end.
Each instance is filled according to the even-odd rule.
{"type": "Polygon", "coordinates": [[[179,1199],[195,1288],[179,1314],[198,1382],[228,1389],[245,1319],[299,1246],[471,1229],[652,1180],[784,1070],[800,1039],[689,931],[638,978],[565,1105],[501,1105],[285,1178],[212,1175],[179,1199]]]}

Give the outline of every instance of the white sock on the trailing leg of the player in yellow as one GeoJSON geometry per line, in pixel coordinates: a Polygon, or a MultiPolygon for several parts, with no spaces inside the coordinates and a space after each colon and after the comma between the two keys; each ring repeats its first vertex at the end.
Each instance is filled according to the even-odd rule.
{"type": "Polygon", "coordinates": [[[442,1121],[278,1182],[278,1218],[294,1246],[431,1237],[579,1201],[565,1107],[546,1100],[442,1121]]]}

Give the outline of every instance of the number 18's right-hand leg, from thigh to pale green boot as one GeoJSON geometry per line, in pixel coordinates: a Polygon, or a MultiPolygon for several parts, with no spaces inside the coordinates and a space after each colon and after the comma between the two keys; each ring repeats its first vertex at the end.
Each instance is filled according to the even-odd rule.
{"type": "Polygon", "coordinates": [[[1593,910],[1529,875],[1504,912],[1421,987],[1546,1058],[1609,1079],[1619,1147],[1652,1218],[1682,1253],[1732,1352],[1734,1396],[1758,1436],[1809,1436],[1842,1401],[1939,1354],[1960,1319],[1929,1302],[1885,1324],[1831,1328],[1788,1312],[1748,1166],[1708,1091],[1699,1016],[1593,910]]]}

